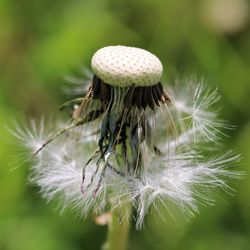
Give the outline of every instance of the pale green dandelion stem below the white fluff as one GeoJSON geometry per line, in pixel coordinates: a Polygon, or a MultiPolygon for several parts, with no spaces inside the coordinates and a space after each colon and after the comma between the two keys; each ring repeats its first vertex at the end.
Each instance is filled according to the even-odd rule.
{"type": "Polygon", "coordinates": [[[131,206],[125,205],[112,212],[104,250],[126,250],[130,228],[131,206]]]}

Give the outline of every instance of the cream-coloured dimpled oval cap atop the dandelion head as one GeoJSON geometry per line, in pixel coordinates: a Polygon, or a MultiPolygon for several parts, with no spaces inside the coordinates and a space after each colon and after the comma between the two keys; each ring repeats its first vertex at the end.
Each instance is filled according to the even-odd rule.
{"type": "Polygon", "coordinates": [[[105,83],[120,87],[157,84],[163,72],[161,61],[152,53],[121,45],[99,49],[91,67],[105,83]]]}

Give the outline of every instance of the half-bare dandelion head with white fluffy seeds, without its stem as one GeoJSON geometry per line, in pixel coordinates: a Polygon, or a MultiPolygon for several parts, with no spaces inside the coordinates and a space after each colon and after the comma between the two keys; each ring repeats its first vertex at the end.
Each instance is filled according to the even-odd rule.
{"type": "Polygon", "coordinates": [[[140,48],[104,47],[91,66],[85,96],[61,107],[75,107],[70,121],[55,122],[39,147],[44,122],[16,132],[34,145],[30,179],[48,201],[82,216],[111,211],[121,225],[134,210],[141,228],[150,208],[172,203],[193,215],[214,203],[209,190],[229,189],[224,177],[237,177],[229,168],[239,156],[217,153],[227,126],[216,91],[191,81],[164,89],[162,63],[140,48]]]}

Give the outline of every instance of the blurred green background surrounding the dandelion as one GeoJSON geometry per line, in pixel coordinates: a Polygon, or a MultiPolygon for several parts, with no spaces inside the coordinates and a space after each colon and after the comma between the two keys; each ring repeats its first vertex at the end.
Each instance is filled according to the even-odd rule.
{"type": "MultiPolygon", "coordinates": [[[[196,75],[222,94],[222,117],[237,125],[225,146],[243,155],[234,195],[188,222],[148,215],[129,249],[250,249],[250,25],[247,0],[0,0],[0,249],[100,249],[106,228],[59,215],[28,184],[6,132],[13,119],[53,117],[66,99],[63,77],[90,66],[106,45],[155,53],[165,79],[196,75]],[[13,163],[13,164],[9,164],[13,163]]],[[[20,158],[20,159],[19,159],[20,158]]]]}

